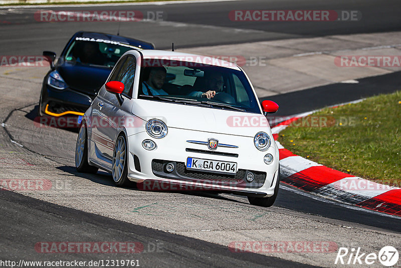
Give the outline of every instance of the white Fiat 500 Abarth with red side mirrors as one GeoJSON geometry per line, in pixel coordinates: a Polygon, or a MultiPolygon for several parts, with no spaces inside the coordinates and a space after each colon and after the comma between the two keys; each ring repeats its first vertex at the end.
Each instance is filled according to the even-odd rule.
{"type": "Polygon", "coordinates": [[[82,117],[76,168],[110,172],[118,186],[235,193],[272,206],[279,152],[266,114],[277,109],[259,103],[236,64],[131,50],[82,117]]]}

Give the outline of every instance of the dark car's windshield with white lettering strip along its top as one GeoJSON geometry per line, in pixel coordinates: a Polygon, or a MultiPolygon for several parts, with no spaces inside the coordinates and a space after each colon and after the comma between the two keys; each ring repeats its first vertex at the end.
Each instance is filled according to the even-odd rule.
{"type": "Polygon", "coordinates": [[[132,49],[138,48],[110,40],[77,37],[68,47],[65,60],[112,68],[126,51],[132,49]]]}

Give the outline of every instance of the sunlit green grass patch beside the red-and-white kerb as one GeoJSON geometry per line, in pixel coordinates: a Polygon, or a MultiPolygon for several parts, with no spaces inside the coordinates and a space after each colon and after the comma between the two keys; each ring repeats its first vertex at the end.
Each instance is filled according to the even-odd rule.
{"type": "Polygon", "coordinates": [[[298,119],[280,132],[279,142],[327,167],[400,187],[401,91],[298,119]]]}

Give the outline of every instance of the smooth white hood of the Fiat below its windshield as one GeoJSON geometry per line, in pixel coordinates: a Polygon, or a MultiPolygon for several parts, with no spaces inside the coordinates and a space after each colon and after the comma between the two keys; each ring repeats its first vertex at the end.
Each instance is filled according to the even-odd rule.
{"type": "Polygon", "coordinates": [[[255,137],[259,131],[271,135],[263,114],[222,110],[179,103],[136,99],[132,113],[145,121],[158,118],[167,127],[255,137]]]}

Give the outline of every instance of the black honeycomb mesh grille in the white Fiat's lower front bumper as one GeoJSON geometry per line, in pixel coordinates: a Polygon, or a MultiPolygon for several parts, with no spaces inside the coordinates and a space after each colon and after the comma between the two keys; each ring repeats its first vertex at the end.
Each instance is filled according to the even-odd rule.
{"type": "MultiPolygon", "coordinates": [[[[168,161],[163,160],[153,160],[152,170],[153,172],[163,172],[164,164],[168,161]]],[[[236,174],[226,175],[202,171],[187,170],[183,162],[175,162],[175,170],[180,177],[193,179],[193,180],[203,180],[203,181],[219,181],[219,182],[235,182],[240,183],[245,179],[246,170],[239,169],[236,174]]],[[[264,184],[266,180],[266,173],[260,171],[251,171],[255,174],[255,183],[264,184]]],[[[158,176],[156,174],[156,176],[158,176]]]]}

